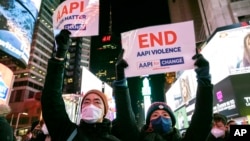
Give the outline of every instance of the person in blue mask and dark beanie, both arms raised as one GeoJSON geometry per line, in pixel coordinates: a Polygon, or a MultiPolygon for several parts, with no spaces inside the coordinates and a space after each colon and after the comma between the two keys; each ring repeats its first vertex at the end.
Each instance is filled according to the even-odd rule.
{"type": "MultiPolygon", "coordinates": [[[[124,70],[129,64],[120,53],[116,63],[116,80],[113,91],[117,108],[116,125],[112,130],[124,141],[205,141],[212,123],[213,85],[209,74],[209,62],[202,54],[196,54],[197,93],[194,114],[185,136],[175,128],[176,117],[165,102],[154,102],[146,115],[146,124],[139,130],[132,111],[129,88],[124,70]]],[[[152,93],[153,94],[153,93],[152,93]]]]}

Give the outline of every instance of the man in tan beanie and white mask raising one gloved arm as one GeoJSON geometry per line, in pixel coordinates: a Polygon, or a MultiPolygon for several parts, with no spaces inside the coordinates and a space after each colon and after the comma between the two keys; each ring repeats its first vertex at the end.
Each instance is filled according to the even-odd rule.
{"type": "Polygon", "coordinates": [[[99,90],[88,91],[82,100],[80,124],[71,122],[62,98],[65,57],[70,46],[70,32],[62,30],[56,37],[55,57],[48,61],[41,97],[43,119],[52,141],[119,141],[110,134],[111,121],[104,118],[108,104],[99,90]]]}

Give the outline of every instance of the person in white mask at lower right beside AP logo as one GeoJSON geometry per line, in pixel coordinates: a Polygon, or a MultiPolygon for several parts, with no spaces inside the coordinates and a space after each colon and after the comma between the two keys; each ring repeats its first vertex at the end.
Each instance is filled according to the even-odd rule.
{"type": "Polygon", "coordinates": [[[227,117],[222,114],[213,115],[213,127],[207,141],[229,141],[230,135],[227,131],[227,117]]]}

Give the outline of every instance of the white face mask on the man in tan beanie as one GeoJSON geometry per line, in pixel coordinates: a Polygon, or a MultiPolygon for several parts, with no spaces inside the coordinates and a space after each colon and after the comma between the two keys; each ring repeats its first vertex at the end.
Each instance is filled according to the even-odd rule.
{"type": "Polygon", "coordinates": [[[87,123],[95,123],[102,118],[102,109],[90,104],[82,108],[81,118],[87,123]]]}

